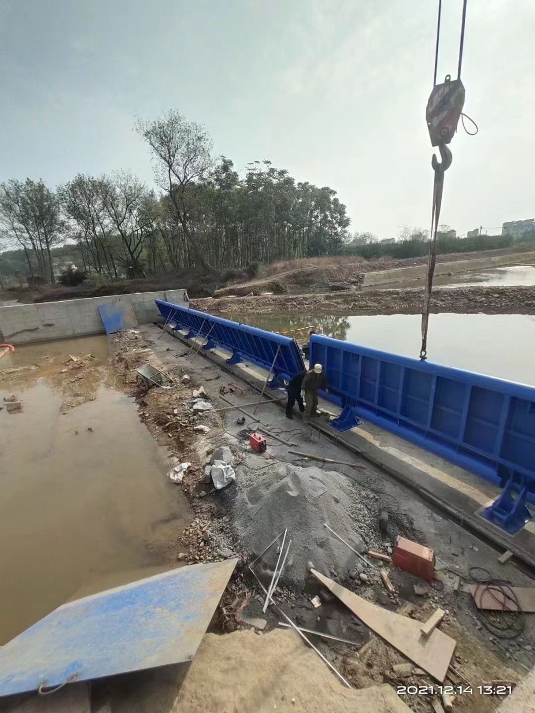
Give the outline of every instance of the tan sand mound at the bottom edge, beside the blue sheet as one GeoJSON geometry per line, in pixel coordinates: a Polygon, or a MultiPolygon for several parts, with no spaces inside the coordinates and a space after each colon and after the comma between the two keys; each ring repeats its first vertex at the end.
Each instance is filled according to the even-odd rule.
{"type": "Polygon", "coordinates": [[[409,708],[388,685],[345,688],[295,634],[206,634],[171,711],[349,713],[409,708]]]}

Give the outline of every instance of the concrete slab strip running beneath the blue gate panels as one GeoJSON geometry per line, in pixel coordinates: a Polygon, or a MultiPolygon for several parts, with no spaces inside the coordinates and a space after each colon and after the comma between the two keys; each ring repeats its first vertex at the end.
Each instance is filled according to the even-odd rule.
{"type": "MultiPolygon", "coordinates": [[[[157,330],[158,334],[160,332],[158,327],[151,329],[157,330]]],[[[199,339],[194,343],[193,339],[185,339],[183,332],[172,332],[170,328],[166,331],[190,347],[194,344],[192,355],[205,341],[203,338],[202,342],[199,339]]],[[[203,358],[233,374],[236,379],[243,379],[255,389],[263,388],[267,373],[260,367],[246,361],[230,366],[225,361],[230,357],[230,352],[219,347],[210,352],[201,348],[195,359],[200,359],[201,354],[203,358]]],[[[270,395],[280,398],[280,391],[266,389],[264,396],[270,395]]],[[[283,401],[282,406],[284,405],[283,401]]],[[[335,416],[340,411],[324,399],[320,399],[320,408],[335,416]]],[[[254,406],[250,406],[247,410],[252,414],[253,409],[254,406]]],[[[511,550],[517,558],[535,568],[535,523],[527,523],[516,535],[509,535],[478,514],[483,506],[489,505],[501,492],[493,483],[454,466],[443,458],[380,429],[379,426],[362,424],[340,433],[322,419],[313,419],[311,425],[328,436],[330,441],[359,453],[374,465],[383,468],[397,481],[457,520],[462,527],[473,530],[500,550],[511,550]]]]}

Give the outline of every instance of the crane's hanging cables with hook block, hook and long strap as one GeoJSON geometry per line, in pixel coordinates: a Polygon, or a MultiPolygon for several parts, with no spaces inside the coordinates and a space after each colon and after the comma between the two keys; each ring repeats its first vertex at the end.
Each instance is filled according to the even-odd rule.
{"type": "MultiPolygon", "coordinates": [[[[429,102],[428,102],[428,114],[430,112],[430,107],[431,111],[435,111],[435,116],[437,116],[438,111],[443,111],[444,110],[444,100],[440,101],[438,103],[435,103],[434,106],[432,106],[432,98],[434,96],[434,92],[437,89],[437,67],[438,67],[438,59],[439,59],[439,39],[440,39],[440,21],[441,21],[441,15],[442,15],[442,0],[439,0],[439,13],[438,13],[438,20],[437,20],[437,42],[435,45],[435,51],[434,51],[434,76],[433,76],[433,91],[431,93],[431,96],[429,97],[429,102]]],[[[463,50],[464,50],[464,26],[466,24],[466,19],[467,19],[467,0],[463,0],[463,6],[462,6],[462,23],[461,23],[461,40],[459,43],[459,63],[457,66],[457,84],[460,86],[462,89],[462,101],[460,103],[460,108],[459,108],[459,116],[463,117],[463,126],[464,126],[464,114],[462,113],[462,103],[464,103],[464,87],[462,86],[461,82],[461,68],[462,68],[462,55],[463,55],[463,50]]],[[[450,85],[450,77],[449,75],[446,77],[446,80],[444,81],[444,85],[442,85],[444,88],[450,85]]],[[[453,86],[454,83],[451,83],[451,86],[453,86]]],[[[446,100],[447,100],[446,96],[446,100]]],[[[454,101],[454,98],[452,98],[452,102],[454,101]]],[[[453,103],[452,103],[453,106],[453,103]]],[[[455,112],[453,112],[455,113],[455,112]]],[[[427,279],[426,279],[426,284],[425,284],[425,292],[424,292],[424,303],[422,306],[422,348],[420,349],[420,359],[424,361],[427,359],[427,329],[429,327],[429,308],[431,306],[431,292],[433,289],[433,275],[434,275],[434,266],[435,263],[437,262],[437,230],[439,227],[439,218],[440,218],[440,208],[442,206],[442,192],[444,189],[444,172],[449,168],[450,165],[452,165],[452,152],[449,150],[447,147],[447,143],[452,140],[453,138],[453,133],[455,130],[457,130],[457,121],[459,120],[459,116],[457,116],[457,120],[454,121],[454,129],[453,131],[447,130],[447,129],[442,129],[441,132],[441,138],[439,140],[434,141],[433,135],[432,135],[432,122],[429,121],[429,116],[428,116],[428,125],[429,125],[429,134],[431,135],[432,138],[432,145],[437,145],[439,148],[439,153],[442,158],[442,163],[439,163],[437,156],[433,154],[432,160],[431,160],[431,165],[434,170],[434,185],[433,185],[433,203],[432,203],[432,215],[431,215],[431,231],[430,231],[430,240],[429,240],[429,261],[427,264],[427,279]]],[[[469,118],[469,117],[467,117],[469,118]]],[[[472,121],[472,119],[470,119],[472,121]]],[[[477,124],[473,122],[474,125],[476,126],[476,131],[474,132],[477,133],[477,124]]],[[[450,127],[451,128],[451,127],[450,127]]],[[[464,128],[466,131],[466,128],[464,128]]],[[[469,132],[467,132],[469,133],[469,132]]]]}

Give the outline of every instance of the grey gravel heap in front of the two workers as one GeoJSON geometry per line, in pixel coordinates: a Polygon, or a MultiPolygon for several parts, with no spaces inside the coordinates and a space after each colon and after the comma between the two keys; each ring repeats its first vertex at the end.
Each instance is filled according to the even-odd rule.
{"type": "MultiPolygon", "coordinates": [[[[366,546],[355,535],[355,520],[365,521],[366,506],[355,500],[355,486],[335,471],[300,468],[277,461],[250,478],[249,468],[239,466],[240,487],[233,503],[235,530],[242,549],[254,558],[282,530],[292,547],[281,583],[302,589],[307,578],[307,562],[324,573],[345,577],[355,568],[357,556],[325,527],[344,538],[357,551],[366,546]]],[[[275,566],[273,547],[263,558],[265,575],[275,566]]]]}

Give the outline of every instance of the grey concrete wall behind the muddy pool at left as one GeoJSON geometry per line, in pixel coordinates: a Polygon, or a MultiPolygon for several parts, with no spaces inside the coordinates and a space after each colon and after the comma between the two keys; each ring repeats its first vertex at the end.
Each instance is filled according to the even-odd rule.
{"type": "Polygon", "coordinates": [[[99,304],[130,302],[138,324],[146,324],[151,318],[159,319],[155,299],[165,299],[189,307],[185,289],[168,289],[158,292],[135,292],[109,297],[64,299],[61,302],[41,304],[15,304],[0,307],[0,342],[26,344],[44,342],[46,339],[66,339],[84,334],[105,332],[98,314],[99,304]]]}

